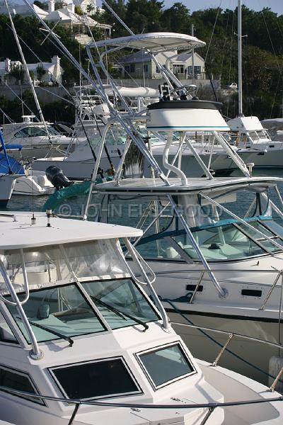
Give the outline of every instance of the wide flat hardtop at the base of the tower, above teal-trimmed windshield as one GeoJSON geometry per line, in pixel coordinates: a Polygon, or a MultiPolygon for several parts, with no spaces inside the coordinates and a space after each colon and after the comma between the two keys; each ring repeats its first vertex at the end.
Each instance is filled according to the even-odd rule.
{"type": "Polygon", "coordinates": [[[171,186],[166,186],[161,179],[122,179],[117,186],[115,181],[100,183],[96,190],[102,193],[143,193],[147,196],[158,194],[206,193],[210,191],[223,190],[223,188],[245,188],[253,186],[259,190],[283,183],[279,177],[217,177],[212,180],[202,178],[187,179],[187,186],[182,186],[180,179],[169,179],[171,186]]]}

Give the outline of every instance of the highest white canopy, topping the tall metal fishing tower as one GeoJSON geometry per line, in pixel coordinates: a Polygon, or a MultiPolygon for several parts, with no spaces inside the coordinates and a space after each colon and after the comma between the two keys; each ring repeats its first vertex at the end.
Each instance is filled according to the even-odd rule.
{"type": "Polygon", "coordinates": [[[156,53],[166,52],[167,50],[190,50],[196,47],[204,47],[205,42],[187,34],[146,33],[89,43],[90,47],[119,45],[121,47],[131,47],[132,49],[146,49],[156,53]]]}

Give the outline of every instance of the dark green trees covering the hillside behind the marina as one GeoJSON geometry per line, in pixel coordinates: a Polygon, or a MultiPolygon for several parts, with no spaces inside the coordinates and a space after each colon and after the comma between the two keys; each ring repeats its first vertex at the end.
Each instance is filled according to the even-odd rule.
{"type": "MultiPolygon", "coordinates": [[[[63,3],[57,2],[56,6],[62,7],[63,3]]],[[[35,4],[40,6],[40,1],[35,4]]],[[[237,9],[207,8],[190,13],[185,6],[189,3],[178,1],[170,8],[164,8],[163,1],[158,0],[108,0],[108,4],[134,33],[165,30],[190,34],[193,23],[195,36],[207,43],[206,47],[197,50],[197,53],[206,59],[207,74],[214,78],[221,77],[222,86],[237,81],[237,9]]],[[[108,8],[103,8],[104,13],[96,11],[91,17],[100,23],[112,25],[113,37],[128,35],[127,30],[116,21],[108,8]]],[[[46,34],[40,31],[36,18],[16,15],[13,20],[18,35],[35,51],[42,62],[50,61],[50,57],[54,55],[62,58],[64,84],[79,83],[79,72],[67,57],[62,56],[62,52],[51,40],[47,39],[40,46],[46,34]]],[[[20,60],[8,25],[8,17],[0,15],[0,60],[5,60],[6,57],[20,60]]],[[[243,6],[242,28],[243,35],[247,35],[243,37],[244,112],[258,114],[260,118],[279,115],[283,93],[283,15],[277,16],[270,8],[253,11],[243,6]]],[[[71,38],[71,30],[57,26],[56,33],[76,60],[81,60],[81,64],[87,69],[86,50],[71,38]]],[[[96,28],[93,35],[96,40],[104,38],[103,31],[96,28]]],[[[23,52],[28,63],[37,62],[24,45],[23,52]]],[[[125,52],[109,55],[109,67],[115,60],[119,60],[121,55],[125,55],[125,52]]],[[[231,95],[229,101],[224,98],[224,102],[225,112],[231,116],[236,115],[237,94],[231,95]]]]}

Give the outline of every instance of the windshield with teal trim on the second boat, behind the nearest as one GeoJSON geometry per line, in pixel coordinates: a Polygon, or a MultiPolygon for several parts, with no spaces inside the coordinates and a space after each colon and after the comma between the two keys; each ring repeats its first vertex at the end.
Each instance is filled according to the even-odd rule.
{"type": "MultiPolygon", "coordinates": [[[[283,227],[275,220],[260,217],[257,220],[254,217],[246,222],[282,245],[283,249],[283,227]]],[[[191,231],[207,261],[239,260],[280,251],[278,246],[262,237],[255,229],[250,229],[237,220],[220,220],[212,225],[192,227],[191,231]]],[[[145,257],[147,251],[147,257],[151,258],[199,259],[185,229],[145,237],[140,241],[139,251],[145,257]]]]}

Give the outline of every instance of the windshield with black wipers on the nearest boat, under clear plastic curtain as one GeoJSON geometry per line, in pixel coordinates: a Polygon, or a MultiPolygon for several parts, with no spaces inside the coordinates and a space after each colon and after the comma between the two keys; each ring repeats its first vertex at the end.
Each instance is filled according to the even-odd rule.
{"type": "MultiPolygon", "coordinates": [[[[132,279],[88,281],[83,283],[83,288],[110,329],[160,319],[132,279]]],[[[11,299],[10,296],[7,297],[11,299]]],[[[24,295],[19,297],[23,299],[24,295]]],[[[8,305],[8,309],[30,343],[18,310],[12,305],[8,305]]],[[[98,312],[76,283],[30,291],[23,309],[38,342],[60,339],[60,336],[72,337],[108,331],[98,312]]]]}

